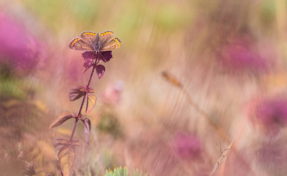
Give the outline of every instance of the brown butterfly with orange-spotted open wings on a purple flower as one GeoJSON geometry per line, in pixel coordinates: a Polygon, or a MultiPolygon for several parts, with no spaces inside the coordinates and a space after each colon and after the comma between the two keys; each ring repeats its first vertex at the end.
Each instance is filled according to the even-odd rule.
{"type": "Polygon", "coordinates": [[[110,51],[120,47],[120,39],[113,38],[113,31],[105,31],[102,33],[82,32],[80,38],[74,38],[69,43],[69,48],[82,51],[95,51],[96,54],[100,51],[110,51]]]}

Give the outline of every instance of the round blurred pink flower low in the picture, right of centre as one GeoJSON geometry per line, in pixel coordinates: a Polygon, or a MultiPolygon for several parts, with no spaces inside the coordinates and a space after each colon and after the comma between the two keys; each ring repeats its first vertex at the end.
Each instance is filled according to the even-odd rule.
{"type": "Polygon", "coordinates": [[[183,159],[194,159],[201,154],[201,144],[196,136],[178,132],[173,139],[174,152],[183,159]]]}

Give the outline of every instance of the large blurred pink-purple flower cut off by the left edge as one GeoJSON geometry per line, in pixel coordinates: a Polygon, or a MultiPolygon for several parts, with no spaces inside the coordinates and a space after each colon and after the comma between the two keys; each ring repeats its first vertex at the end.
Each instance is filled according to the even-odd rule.
{"type": "Polygon", "coordinates": [[[39,62],[41,46],[25,26],[0,13],[0,62],[18,70],[31,71],[39,62]]]}

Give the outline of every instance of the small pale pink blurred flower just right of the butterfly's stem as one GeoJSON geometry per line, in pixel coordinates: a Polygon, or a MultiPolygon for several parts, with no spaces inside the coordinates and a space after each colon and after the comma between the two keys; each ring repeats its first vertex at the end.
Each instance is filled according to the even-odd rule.
{"type": "Polygon", "coordinates": [[[123,82],[118,80],[114,85],[110,85],[102,94],[102,100],[107,105],[117,105],[121,99],[123,82]]]}

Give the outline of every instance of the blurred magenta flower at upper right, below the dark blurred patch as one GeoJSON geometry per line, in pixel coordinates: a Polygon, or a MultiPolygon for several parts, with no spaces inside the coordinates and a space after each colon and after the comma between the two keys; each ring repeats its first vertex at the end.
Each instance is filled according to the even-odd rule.
{"type": "Polygon", "coordinates": [[[250,42],[241,38],[237,38],[222,47],[221,63],[224,69],[232,72],[250,71],[258,73],[268,69],[267,60],[252,49],[250,42]]]}

